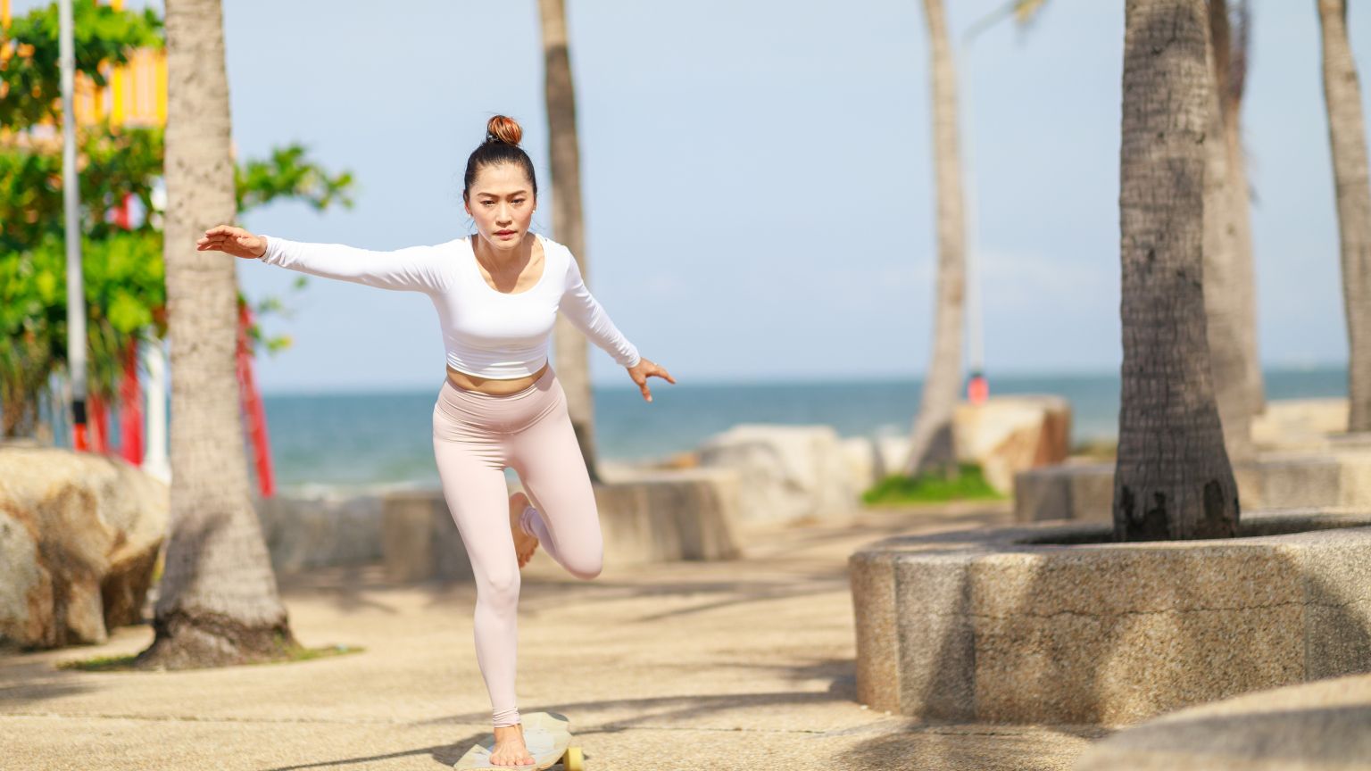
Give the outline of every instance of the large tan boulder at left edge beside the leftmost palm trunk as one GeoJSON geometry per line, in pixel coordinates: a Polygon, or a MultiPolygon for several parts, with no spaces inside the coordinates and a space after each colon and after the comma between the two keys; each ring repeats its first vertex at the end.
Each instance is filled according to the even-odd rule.
{"type": "Polygon", "coordinates": [[[167,486],[115,457],[0,449],[0,642],[97,643],[141,620],[167,486]]]}

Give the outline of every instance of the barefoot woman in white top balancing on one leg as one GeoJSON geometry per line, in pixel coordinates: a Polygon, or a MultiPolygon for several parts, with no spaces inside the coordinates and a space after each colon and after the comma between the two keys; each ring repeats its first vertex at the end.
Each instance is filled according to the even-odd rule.
{"type": "Polygon", "coordinates": [[[642,358],[591,296],[570,251],[529,233],[537,202],[533,163],[511,118],[487,123],[466,162],[462,200],[473,236],[437,246],[367,251],[296,243],[229,225],[204,232],[200,251],[260,259],[291,270],[429,295],[447,348],[433,406],[433,454],[443,495],[476,573],[476,659],[491,696],[491,761],[533,761],[514,700],[520,568],[539,543],[568,572],[600,572],[603,542],[585,461],[566,396],[547,364],[561,310],[628,369],[643,398],[650,376],[676,380],[642,358]],[[506,498],[505,468],[526,490],[506,498]],[[496,512],[507,505],[509,519],[496,512]]]}

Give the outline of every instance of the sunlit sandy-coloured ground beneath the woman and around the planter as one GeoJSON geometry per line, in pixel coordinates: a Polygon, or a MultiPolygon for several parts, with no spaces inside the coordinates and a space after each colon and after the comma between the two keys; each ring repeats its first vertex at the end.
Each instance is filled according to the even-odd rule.
{"type": "MultiPolygon", "coordinates": [[[[568,715],[594,771],[1069,768],[1104,731],[930,726],[857,702],[847,556],[1008,519],[1008,505],[982,503],[747,525],[746,558],[607,564],[590,582],[540,550],[520,602],[520,711],[568,715]]],[[[184,672],[53,668],[141,650],[144,624],[0,657],[0,768],[443,768],[489,731],[472,584],[393,584],[370,567],[280,580],[303,643],[365,650],[184,672]]]]}

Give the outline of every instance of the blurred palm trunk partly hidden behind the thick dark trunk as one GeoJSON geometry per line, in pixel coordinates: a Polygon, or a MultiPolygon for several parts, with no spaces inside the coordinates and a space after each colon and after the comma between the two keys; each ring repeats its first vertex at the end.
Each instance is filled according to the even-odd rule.
{"type": "MultiPolygon", "coordinates": [[[[1208,89],[1208,130],[1204,137],[1204,300],[1208,316],[1209,351],[1215,398],[1223,423],[1224,444],[1230,461],[1246,461],[1252,451],[1252,387],[1245,342],[1249,318],[1243,311],[1250,285],[1242,287],[1238,263],[1238,199],[1233,191],[1228,145],[1224,136],[1222,93],[1228,84],[1228,8],[1227,0],[1209,0],[1209,64],[1213,88],[1208,89]],[[1246,291],[1245,291],[1246,289],[1246,291]]],[[[1250,254],[1246,255],[1250,263],[1250,254]]]]}

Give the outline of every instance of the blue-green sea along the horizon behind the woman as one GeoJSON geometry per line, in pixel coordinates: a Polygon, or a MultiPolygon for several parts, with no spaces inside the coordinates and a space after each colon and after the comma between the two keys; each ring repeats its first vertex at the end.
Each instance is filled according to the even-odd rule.
{"type": "MultiPolygon", "coordinates": [[[[1346,369],[1268,369],[1268,399],[1346,396],[1346,369]]],[[[902,435],[923,383],[909,380],[596,387],[595,438],[610,461],[666,458],[739,423],[827,424],[840,436],[902,435]]],[[[1072,443],[1112,440],[1119,375],[990,376],[990,394],[1056,394],[1072,406],[1072,443]]],[[[367,394],[267,394],[282,491],[437,487],[430,416],[437,388],[367,394]]],[[[506,472],[511,479],[514,472],[506,472]]]]}

